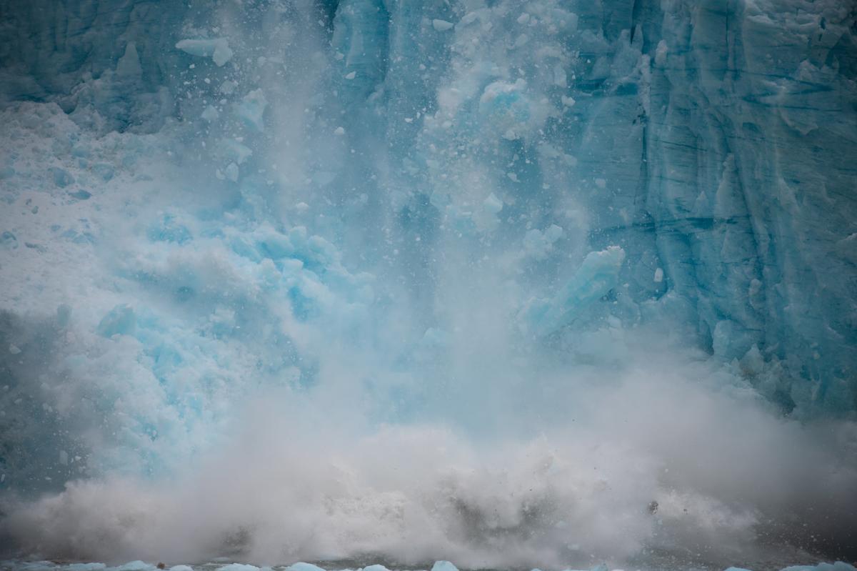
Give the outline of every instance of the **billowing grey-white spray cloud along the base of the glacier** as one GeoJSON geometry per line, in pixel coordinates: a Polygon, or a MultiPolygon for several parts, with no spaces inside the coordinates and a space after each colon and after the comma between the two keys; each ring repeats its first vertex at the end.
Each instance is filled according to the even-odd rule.
{"type": "Polygon", "coordinates": [[[69,484],[7,526],[33,554],[111,562],[561,568],[651,550],[754,562],[766,544],[794,562],[825,547],[807,528],[847,541],[854,424],[779,418],[703,360],[656,355],[557,374],[547,384],[568,403],[562,422],[523,412],[526,399],[498,412],[513,432],[534,427],[526,438],[378,424],[359,400],[266,394],[230,442],[174,478],[69,484]]]}

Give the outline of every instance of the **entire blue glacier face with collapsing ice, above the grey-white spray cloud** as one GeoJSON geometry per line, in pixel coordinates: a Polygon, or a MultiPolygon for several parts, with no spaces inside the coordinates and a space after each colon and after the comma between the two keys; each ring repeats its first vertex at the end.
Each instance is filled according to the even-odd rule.
{"type": "MultiPolygon", "coordinates": [[[[168,478],[274,392],[370,433],[535,437],[626,379],[640,337],[719,371],[717,398],[842,421],[812,458],[853,489],[855,21],[839,0],[3,6],[0,493],[168,478]]],[[[650,406],[683,422],[671,402],[650,406]]],[[[756,435],[734,466],[780,426],[730,420],[756,435]]],[[[764,520],[810,479],[774,460],[779,496],[715,483],[707,513],[764,520]]]]}

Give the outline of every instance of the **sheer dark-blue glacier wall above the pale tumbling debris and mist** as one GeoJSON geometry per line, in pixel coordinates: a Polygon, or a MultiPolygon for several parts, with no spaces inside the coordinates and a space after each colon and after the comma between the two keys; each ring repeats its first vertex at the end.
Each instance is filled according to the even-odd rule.
{"type": "Polygon", "coordinates": [[[300,3],[10,4],[3,95],[145,132],[200,123],[201,99],[217,106],[234,83],[220,105],[245,105],[254,131],[269,99],[324,86],[317,116],[277,105],[267,122],[342,127],[363,147],[363,165],[302,166],[339,201],[367,195],[341,224],[391,204],[399,228],[448,218],[492,233],[490,207],[471,210],[493,196],[503,219],[527,217],[504,239],[560,223],[577,248],[626,248],[638,261],[620,279],[631,319],[680,314],[727,360],[757,347],[794,381],[764,388],[787,410],[854,409],[853,7],[584,4],[320,3],[304,22],[313,33],[287,30],[300,3]],[[483,189],[464,180],[475,169],[483,189]]]}

